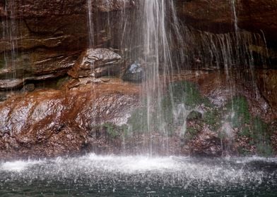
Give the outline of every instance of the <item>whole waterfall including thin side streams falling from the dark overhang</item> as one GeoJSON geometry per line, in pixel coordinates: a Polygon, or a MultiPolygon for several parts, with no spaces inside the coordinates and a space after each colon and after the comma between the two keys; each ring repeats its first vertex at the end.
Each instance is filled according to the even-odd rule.
{"type": "MultiPolygon", "coordinates": [[[[111,40],[103,47],[115,49],[126,60],[126,68],[132,63],[139,62],[145,72],[140,94],[142,110],[135,110],[137,114],[132,120],[135,122],[131,124],[127,122],[129,134],[138,132],[134,127],[139,127],[139,132],[143,132],[145,139],[141,145],[143,146],[141,152],[152,154],[156,152],[156,146],[160,146],[159,148],[164,150],[163,153],[166,153],[170,144],[168,136],[172,134],[171,132],[185,134],[187,116],[192,110],[199,110],[197,105],[193,108],[186,106],[185,96],[181,95],[182,93],[178,96],[184,99],[176,100],[174,95],[176,89],[172,85],[175,82],[172,83],[172,78],[181,69],[219,72],[224,70],[226,81],[232,87],[230,90],[232,95],[235,95],[235,80],[238,78],[252,79],[253,87],[256,88],[254,58],[249,46],[263,46],[264,39],[260,34],[239,28],[235,0],[230,0],[235,31],[222,34],[194,30],[185,24],[182,24],[184,26],[181,28],[173,0],[139,0],[136,1],[136,7],[130,10],[125,7],[125,3],[128,4],[129,1],[122,2],[124,2],[123,9],[117,13],[97,13],[93,10],[93,0],[87,0],[88,45],[90,48],[102,47],[101,41],[98,40],[101,39],[101,32],[111,34],[111,39],[114,34],[118,34],[120,42],[113,43],[111,40]],[[99,21],[96,21],[101,15],[105,16],[101,18],[101,22],[104,21],[107,25],[100,25],[99,21]],[[177,126],[168,127],[168,125],[177,126]],[[158,143],[155,141],[157,136],[161,139],[158,143]]],[[[261,61],[264,61],[262,57],[261,61]]],[[[191,86],[183,83],[179,84],[178,88],[190,91],[191,86]]],[[[123,147],[125,147],[124,141],[125,139],[123,147]]]]}

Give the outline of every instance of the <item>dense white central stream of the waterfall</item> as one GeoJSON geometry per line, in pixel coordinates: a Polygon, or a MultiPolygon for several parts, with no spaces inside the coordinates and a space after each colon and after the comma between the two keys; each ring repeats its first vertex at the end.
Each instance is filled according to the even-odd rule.
{"type": "MultiPolygon", "coordinates": [[[[142,42],[143,53],[141,58],[146,64],[146,80],[143,83],[143,98],[147,106],[147,131],[148,133],[161,132],[165,136],[163,146],[167,150],[167,136],[170,131],[165,127],[166,113],[173,113],[163,108],[164,87],[167,85],[165,78],[170,78],[173,72],[172,44],[173,37],[182,37],[172,0],[144,0],[142,1],[142,42]],[[170,23],[173,23],[170,25],[170,23]],[[163,76],[163,77],[161,77],[163,76]],[[166,76],[166,77],[165,77],[166,76]]],[[[174,59],[174,61],[177,61],[174,59]]],[[[172,106],[174,103],[172,103],[172,106]]],[[[150,141],[149,152],[152,153],[150,141]]]]}

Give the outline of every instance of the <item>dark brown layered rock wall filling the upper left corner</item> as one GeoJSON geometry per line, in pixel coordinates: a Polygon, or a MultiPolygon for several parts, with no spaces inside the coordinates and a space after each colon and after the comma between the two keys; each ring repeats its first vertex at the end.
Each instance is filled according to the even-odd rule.
{"type": "Polygon", "coordinates": [[[0,80],[59,77],[86,47],[86,1],[15,0],[0,7],[5,11],[0,25],[0,80]]]}

